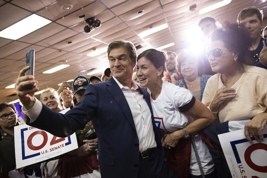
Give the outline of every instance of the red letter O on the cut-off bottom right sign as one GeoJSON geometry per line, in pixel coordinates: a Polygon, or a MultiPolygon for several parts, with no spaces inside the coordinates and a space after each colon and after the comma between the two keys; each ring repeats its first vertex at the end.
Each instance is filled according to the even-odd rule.
{"type": "Polygon", "coordinates": [[[267,172],[267,166],[258,166],[256,164],[254,164],[250,158],[250,155],[252,154],[252,152],[255,150],[259,150],[259,149],[267,151],[267,145],[264,143],[255,143],[253,145],[250,145],[244,154],[245,161],[246,161],[247,165],[249,167],[251,167],[252,169],[254,169],[255,171],[267,172]]]}

